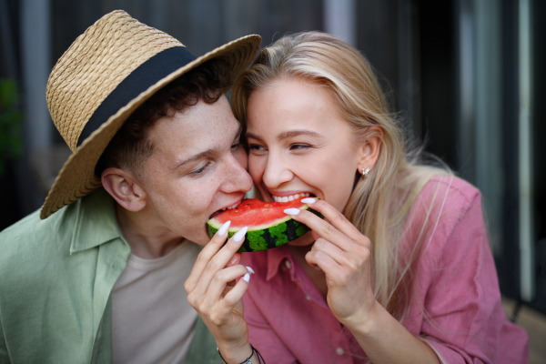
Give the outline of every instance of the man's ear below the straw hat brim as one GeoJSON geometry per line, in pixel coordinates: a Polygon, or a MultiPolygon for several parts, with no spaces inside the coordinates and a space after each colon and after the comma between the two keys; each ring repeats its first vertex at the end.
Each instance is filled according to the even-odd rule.
{"type": "Polygon", "coordinates": [[[146,207],[146,192],[131,173],[110,167],[103,171],[100,179],[103,187],[121,207],[133,212],[146,207]]]}

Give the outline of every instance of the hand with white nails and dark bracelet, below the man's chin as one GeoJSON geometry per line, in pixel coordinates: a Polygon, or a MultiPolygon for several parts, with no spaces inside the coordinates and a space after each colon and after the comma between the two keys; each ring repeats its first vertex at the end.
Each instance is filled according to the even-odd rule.
{"type": "Polygon", "coordinates": [[[247,321],[243,317],[242,297],[247,291],[251,268],[238,264],[238,248],[245,240],[247,228],[227,238],[228,223],[220,227],[197,257],[184,284],[187,301],[197,310],[217,341],[227,362],[241,362],[252,353],[248,342],[247,321]],[[236,278],[239,279],[236,283],[236,278]]]}

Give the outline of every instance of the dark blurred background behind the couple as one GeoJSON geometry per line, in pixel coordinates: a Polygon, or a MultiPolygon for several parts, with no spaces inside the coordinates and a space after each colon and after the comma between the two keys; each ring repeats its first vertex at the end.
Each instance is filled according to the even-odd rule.
{"type": "Polygon", "coordinates": [[[355,45],[408,131],[483,193],[512,313],[546,314],[546,1],[0,0],[0,230],[41,206],[69,153],[45,105],[51,68],[115,9],[197,56],[303,30],[355,45]]]}

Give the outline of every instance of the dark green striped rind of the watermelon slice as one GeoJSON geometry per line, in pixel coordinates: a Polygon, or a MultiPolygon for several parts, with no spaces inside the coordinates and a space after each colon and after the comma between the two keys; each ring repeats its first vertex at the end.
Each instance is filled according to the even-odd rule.
{"type": "MultiPolygon", "coordinates": [[[[320,218],[324,218],[319,211],[316,211],[310,207],[303,206],[300,209],[307,209],[309,212],[317,215],[320,218]]],[[[210,238],[214,237],[217,233],[217,224],[214,224],[214,219],[207,221],[207,232],[210,238]]],[[[229,228],[227,235],[229,238],[238,232],[239,228],[229,228]]],[[[277,248],[289,243],[292,240],[300,238],[304,234],[308,233],[310,228],[293,219],[289,215],[287,217],[278,218],[270,224],[260,225],[259,227],[248,228],[245,241],[241,248],[238,249],[239,253],[246,253],[252,251],[267,250],[270,248],[277,248]]]]}

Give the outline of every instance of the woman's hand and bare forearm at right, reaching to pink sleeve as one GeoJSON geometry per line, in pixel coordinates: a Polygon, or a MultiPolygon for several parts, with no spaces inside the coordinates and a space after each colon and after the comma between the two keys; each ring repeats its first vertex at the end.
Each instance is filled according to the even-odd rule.
{"type": "Polygon", "coordinates": [[[306,210],[289,208],[285,212],[312,229],[317,241],[305,258],[324,271],[329,308],[371,362],[438,363],[430,346],[414,337],[374,297],[369,238],[328,202],[314,198],[301,201],[312,204],[326,219],[306,210]]]}

